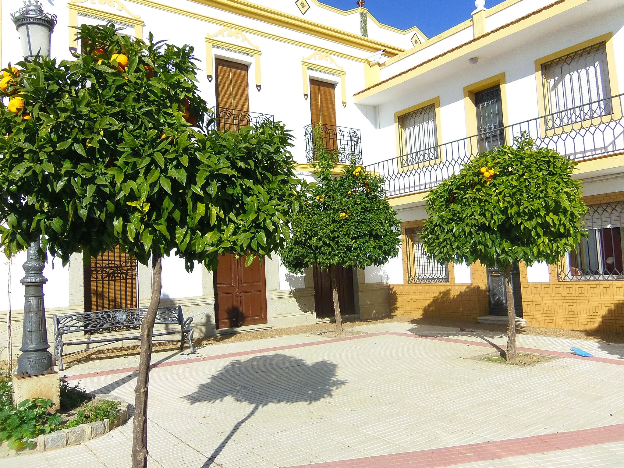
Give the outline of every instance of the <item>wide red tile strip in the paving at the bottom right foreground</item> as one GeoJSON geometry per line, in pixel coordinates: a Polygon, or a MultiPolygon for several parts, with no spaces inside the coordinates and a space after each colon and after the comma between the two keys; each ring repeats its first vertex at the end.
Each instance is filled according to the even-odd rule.
{"type": "MultiPolygon", "coordinates": [[[[400,454],[306,465],[310,468],[440,468],[485,462],[545,452],[577,449],[611,442],[624,442],[624,424],[506,441],[481,442],[466,446],[404,452],[400,454]]],[[[295,468],[295,467],[290,467],[295,468]]]]}

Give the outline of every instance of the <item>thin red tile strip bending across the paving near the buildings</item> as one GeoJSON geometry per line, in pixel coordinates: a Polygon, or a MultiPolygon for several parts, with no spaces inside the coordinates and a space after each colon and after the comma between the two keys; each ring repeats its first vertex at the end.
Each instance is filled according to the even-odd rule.
{"type": "MultiPolygon", "coordinates": [[[[421,335],[421,334],[400,333],[397,331],[380,331],[378,333],[367,333],[367,334],[363,334],[359,336],[345,336],[344,338],[325,339],[323,341],[314,341],[313,343],[287,344],[285,346],[275,346],[273,348],[250,349],[248,351],[238,351],[238,353],[227,353],[227,354],[216,354],[215,356],[204,356],[203,358],[177,359],[176,361],[166,361],[164,363],[152,364],[151,368],[154,369],[154,368],[165,368],[169,366],[181,366],[183,364],[198,363],[201,361],[214,361],[215,359],[238,358],[239,356],[250,356],[251,354],[273,353],[275,351],[285,351],[286,349],[307,348],[308,346],[319,346],[321,344],[339,343],[341,341],[351,341],[352,339],[372,338],[373,336],[383,336],[383,335],[405,336],[407,338],[432,339],[435,341],[444,341],[446,343],[470,344],[472,346],[479,346],[481,348],[495,348],[495,346],[493,346],[490,343],[483,343],[481,341],[472,341],[468,339],[444,338],[441,336],[427,336],[427,335],[421,335]]],[[[616,364],[619,366],[624,366],[624,359],[598,358],[596,356],[593,356],[592,358],[583,358],[582,356],[577,356],[577,354],[562,353],[560,351],[549,351],[548,349],[522,348],[522,347],[519,347],[517,349],[518,351],[522,353],[547,354],[549,356],[558,356],[560,358],[582,359],[583,361],[595,361],[597,363],[607,363],[607,364],[616,364]]],[[[91,372],[87,374],[76,374],[73,376],[67,376],[67,379],[76,380],[76,379],[86,379],[90,377],[99,377],[99,376],[105,376],[105,375],[127,374],[127,373],[137,371],[138,369],[139,369],[138,367],[110,369],[109,371],[99,371],[99,372],[91,372]]]]}

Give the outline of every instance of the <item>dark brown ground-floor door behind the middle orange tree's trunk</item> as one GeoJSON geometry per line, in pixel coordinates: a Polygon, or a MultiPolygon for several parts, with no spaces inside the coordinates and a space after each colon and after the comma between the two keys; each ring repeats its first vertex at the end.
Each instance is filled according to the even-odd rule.
{"type": "MultiPolygon", "coordinates": [[[[333,317],[334,295],[331,288],[331,270],[321,271],[314,266],[314,308],[316,316],[333,317]]],[[[355,299],[353,293],[353,268],[336,266],[336,283],[338,285],[338,303],[341,315],[355,313],[355,299]]]]}

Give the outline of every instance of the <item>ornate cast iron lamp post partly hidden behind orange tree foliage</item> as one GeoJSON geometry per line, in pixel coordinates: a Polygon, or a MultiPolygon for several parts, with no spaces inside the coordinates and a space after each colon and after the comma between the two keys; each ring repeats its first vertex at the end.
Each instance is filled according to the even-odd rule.
{"type": "MultiPolygon", "coordinates": [[[[22,43],[24,60],[31,61],[37,56],[49,56],[52,31],[56,26],[56,15],[44,13],[37,0],[24,0],[24,6],[11,14],[22,43]]],[[[46,264],[39,251],[41,241],[36,240],[27,250],[24,272],[20,281],[25,286],[24,326],[22,328],[22,354],[17,358],[16,374],[19,377],[39,376],[54,372],[52,354],[48,351],[46,308],[43,303],[43,276],[46,264]]]]}

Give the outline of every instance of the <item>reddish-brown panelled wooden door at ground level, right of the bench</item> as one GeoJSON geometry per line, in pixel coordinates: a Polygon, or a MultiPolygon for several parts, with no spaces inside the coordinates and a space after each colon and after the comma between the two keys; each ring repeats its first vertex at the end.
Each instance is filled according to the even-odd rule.
{"type": "Polygon", "coordinates": [[[256,258],[220,257],[215,272],[217,328],[267,323],[265,267],[256,258]]]}

